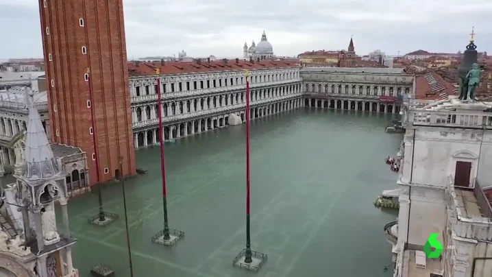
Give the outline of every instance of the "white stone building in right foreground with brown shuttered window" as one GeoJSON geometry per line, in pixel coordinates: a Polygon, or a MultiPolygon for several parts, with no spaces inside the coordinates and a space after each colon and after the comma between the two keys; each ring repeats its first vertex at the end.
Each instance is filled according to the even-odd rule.
{"type": "Polygon", "coordinates": [[[397,228],[386,233],[395,277],[492,276],[491,107],[452,98],[404,111],[397,228]],[[420,256],[432,233],[441,258],[420,256]]]}

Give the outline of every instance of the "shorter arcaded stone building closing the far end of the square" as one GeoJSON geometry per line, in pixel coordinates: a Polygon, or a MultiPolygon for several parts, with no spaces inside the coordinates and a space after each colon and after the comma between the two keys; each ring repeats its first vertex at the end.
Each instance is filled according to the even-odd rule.
{"type": "Polygon", "coordinates": [[[395,113],[415,88],[414,75],[403,69],[304,67],[300,73],[304,105],[317,108],[395,113]]]}

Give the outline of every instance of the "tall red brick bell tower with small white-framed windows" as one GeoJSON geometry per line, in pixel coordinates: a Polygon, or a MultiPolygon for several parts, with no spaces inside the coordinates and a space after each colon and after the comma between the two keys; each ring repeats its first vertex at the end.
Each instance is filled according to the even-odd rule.
{"type": "Polygon", "coordinates": [[[51,143],[86,152],[91,185],[134,174],[123,1],[39,0],[39,12],[51,143]]]}

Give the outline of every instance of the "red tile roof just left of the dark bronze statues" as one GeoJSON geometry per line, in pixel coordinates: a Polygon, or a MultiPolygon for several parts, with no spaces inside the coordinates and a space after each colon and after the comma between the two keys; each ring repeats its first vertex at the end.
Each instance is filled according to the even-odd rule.
{"type": "Polygon", "coordinates": [[[456,87],[446,82],[437,73],[426,73],[415,76],[415,98],[421,100],[441,100],[447,95],[457,95],[456,87]]]}

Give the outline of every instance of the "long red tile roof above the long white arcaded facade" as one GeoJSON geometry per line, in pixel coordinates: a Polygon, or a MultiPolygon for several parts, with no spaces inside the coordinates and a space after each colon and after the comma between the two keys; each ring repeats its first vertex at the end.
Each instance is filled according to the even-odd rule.
{"type": "Polygon", "coordinates": [[[244,71],[259,69],[280,69],[299,67],[296,62],[283,60],[262,60],[249,62],[245,60],[215,60],[213,62],[128,62],[130,76],[155,75],[156,69],[160,74],[189,74],[220,71],[244,71]]]}

